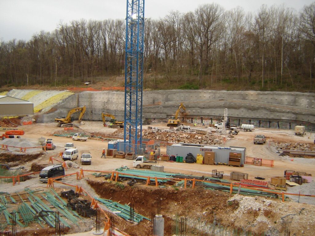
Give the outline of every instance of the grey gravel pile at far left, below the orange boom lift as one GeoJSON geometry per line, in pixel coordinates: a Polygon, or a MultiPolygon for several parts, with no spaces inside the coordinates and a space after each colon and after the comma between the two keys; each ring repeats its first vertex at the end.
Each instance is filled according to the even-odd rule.
{"type": "Polygon", "coordinates": [[[37,153],[43,151],[42,147],[39,147],[40,145],[38,143],[31,143],[25,138],[6,138],[4,140],[0,141],[0,145],[8,145],[11,147],[8,147],[9,151],[11,152],[20,152],[20,148],[30,148],[27,149],[27,153],[37,153]],[[39,148],[32,148],[32,147],[39,147],[39,148]]]}

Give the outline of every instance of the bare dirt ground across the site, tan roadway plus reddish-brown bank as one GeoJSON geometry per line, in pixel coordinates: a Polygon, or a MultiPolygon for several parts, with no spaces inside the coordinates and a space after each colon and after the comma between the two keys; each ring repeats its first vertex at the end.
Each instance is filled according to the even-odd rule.
{"type": "MultiPolygon", "coordinates": [[[[165,123],[156,124],[155,126],[168,129],[165,123]]],[[[32,171],[35,171],[34,168],[36,168],[37,165],[41,166],[40,168],[48,165],[50,156],[58,155],[58,153],[64,150],[65,143],[72,142],[71,138],[52,136],[55,132],[63,131],[63,128],[57,127],[55,123],[18,127],[25,131],[25,135],[22,138],[27,138],[32,142],[37,142],[38,138],[41,137],[53,138],[53,142],[56,145],[55,150],[48,150],[44,152],[43,155],[37,155],[33,160],[27,158],[26,162],[22,164],[25,166],[26,171],[31,171],[31,166],[33,166],[32,171]]],[[[94,133],[96,136],[112,136],[116,131],[115,129],[104,127],[101,121],[83,121],[78,127],[79,128],[71,130],[71,132],[94,133]]],[[[200,125],[200,127],[202,126],[200,125]]],[[[146,129],[147,126],[143,128],[146,129]]],[[[238,135],[232,138],[226,138],[226,142],[220,145],[223,147],[245,147],[246,156],[273,160],[274,167],[247,164],[245,164],[244,167],[212,166],[197,163],[188,164],[165,161],[160,161],[159,165],[163,165],[164,171],[167,172],[178,172],[196,176],[211,176],[211,171],[217,169],[218,171],[224,171],[224,179],[229,179],[230,172],[232,171],[248,173],[249,179],[254,179],[256,176],[264,177],[266,181],[270,181],[270,178],[274,176],[283,176],[285,170],[303,171],[314,176],[314,158],[280,156],[274,146],[274,142],[308,143],[310,147],[314,149],[313,140],[314,134],[311,133],[306,133],[304,137],[297,137],[294,136],[292,130],[256,129],[253,132],[239,132],[238,135]],[[253,144],[252,139],[256,134],[266,135],[267,142],[264,145],[253,144]]],[[[79,151],[89,150],[93,156],[92,164],[82,166],[83,169],[112,171],[120,166],[128,166],[130,169],[133,168],[132,160],[119,158],[101,159],[102,149],[107,149],[108,143],[106,141],[89,139],[86,142],[73,142],[79,151]]],[[[161,154],[166,154],[166,148],[161,149],[161,154]]],[[[9,156],[2,151],[0,162],[5,162],[13,166],[15,161],[9,161],[8,157],[9,156]]],[[[79,159],[74,162],[80,164],[79,159]]],[[[21,161],[19,161],[18,165],[21,165],[21,161]]],[[[68,169],[66,172],[73,173],[75,171],[78,171],[78,169],[68,169]]],[[[85,176],[81,181],[77,181],[75,177],[69,177],[65,178],[64,182],[83,186],[92,196],[112,198],[112,200],[121,201],[122,204],[133,202],[135,204],[135,211],[147,217],[150,211],[155,211],[157,194],[162,194],[162,214],[165,218],[165,235],[171,235],[172,220],[176,213],[178,213],[179,216],[186,216],[196,221],[199,219],[211,224],[240,228],[244,232],[266,232],[266,235],[283,235],[285,229],[289,229],[291,235],[313,235],[313,232],[315,232],[315,219],[310,217],[315,215],[315,198],[311,197],[301,198],[300,204],[298,204],[294,201],[281,203],[280,200],[271,200],[262,197],[231,196],[221,191],[213,192],[199,188],[195,190],[182,188],[157,189],[151,186],[145,187],[136,185],[134,187],[126,186],[124,189],[117,189],[114,184],[108,183],[102,178],[96,179],[93,175],[85,176]]],[[[313,183],[314,181],[312,181],[312,183],[303,184],[302,186],[305,187],[300,191],[301,194],[303,194],[303,191],[308,192],[308,185],[310,188],[314,188],[313,183]]],[[[9,183],[2,184],[1,191],[14,193],[23,191],[26,187],[40,188],[43,187],[43,185],[44,184],[39,183],[36,177],[21,182],[20,185],[12,186],[12,184],[9,183]]],[[[62,186],[60,188],[68,187],[62,186]]],[[[287,192],[293,192],[294,188],[289,188],[287,192]]],[[[93,228],[93,221],[89,221],[89,224],[83,224],[76,229],[71,229],[68,233],[91,230],[91,228],[93,228]]],[[[127,224],[119,219],[119,217],[117,217],[116,223],[118,228],[130,235],[149,235],[149,222],[146,220],[140,222],[137,227],[127,224]]]]}

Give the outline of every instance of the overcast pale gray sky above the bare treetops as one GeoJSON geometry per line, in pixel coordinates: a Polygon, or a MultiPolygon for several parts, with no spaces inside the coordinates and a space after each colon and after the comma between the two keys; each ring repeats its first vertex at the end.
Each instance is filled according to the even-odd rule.
{"type": "MultiPolygon", "coordinates": [[[[299,11],[314,0],[146,0],[145,17],[158,19],[172,10],[193,11],[200,4],[218,3],[226,10],[237,6],[248,12],[257,11],[262,4],[268,7],[284,4],[299,11]]],[[[0,40],[30,40],[35,33],[53,31],[60,21],[92,19],[124,19],[127,0],[0,0],[0,40]]]]}

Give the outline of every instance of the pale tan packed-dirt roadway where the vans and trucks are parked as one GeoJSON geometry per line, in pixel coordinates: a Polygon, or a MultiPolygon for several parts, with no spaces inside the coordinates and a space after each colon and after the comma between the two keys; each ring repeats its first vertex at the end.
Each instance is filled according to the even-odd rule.
{"type": "MultiPolygon", "coordinates": [[[[163,127],[163,125],[158,124],[157,126],[163,127]]],[[[165,126],[165,125],[164,125],[165,126]]],[[[84,121],[78,129],[78,132],[99,132],[100,134],[111,135],[116,129],[111,129],[108,127],[104,127],[102,122],[97,121],[84,121]]],[[[144,126],[144,129],[147,126],[144,126]]],[[[23,138],[28,138],[33,142],[37,142],[37,139],[40,137],[44,138],[53,138],[54,144],[56,145],[55,150],[47,151],[46,157],[41,161],[42,163],[47,162],[48,158],[51,155],[57,155],[58,153],[64,151],[64,145],[67,142],[73,142],[77,149],[80,150],[89,150],[92,154],[92,164],[83,166],[84,169],[89,170],[113,170],[120,166],[128,166],[132,167],[132,160],[126,159],[118,159],[118,158],[100,158],[102,154],[102,149],[107,149],[107,142],[103,142],[100,140],[92,140],[89,139],[86,142],[80,141],[72,141],[71,138],[65,137],[57,137],[52,136],[54,132],[63,130],[63,128],[57,127],[55,123],[48,124],[36,124],[36,125],[28,125],[21,126],[25,130],[25,135],[23,138]]],[[[165,128],[168,128],[165,126],[165,128]]],[[[72,132],[72,131],[71,131],[72,132]]],[[[212,166],[212,165],[201,165],[201,164],[188,164],[188,163],[171,163],[161,161],[159,164],[164,166],[164,171],[172,171],[172,172],[181,172],[185,174],[193,174],[193,175],[211,175],[211,171],[213,169],[217,169],[218,171],[224,171],[224,178],[229,178],[230,172],[238,171],[249,173],[249,178],[254,178],[256,176],[264,177],[266,179],[270,179],[272,176],[283,176],[284,170],[296,170],[303,171],[307,173],[311,173],[313,176],[315,175],[315,170],[313,165],[315,164],[315,159],[307,159],[307,158],[293,158],[288,156],[279,156],[276,153],[276,149],[273,146],[273,141],[283,141],[286,142],[303,142],[303,143],[311,143],[312,140],[308,137],[313,137],[313,134],[310,135],[307,133],[304,137],[298,137],[292,135],[293,131],[288,130],[272,130],[272,129],[256,129],[253,132],[239,132],[237,136],[233,136],[233,138],[227,138],[226,142],[221,145],[224,147],[229,146],[238,146],[246,148],[246,156],[262,158],[266,160],[273,160],[274,167],[266,167],[266,166],[253,166],[245,164],[244,167],[233,167],[233,166],[212,166]],[[256,134],[264,134],[267,136],[267,142],[264,145],[254,144],[252,142],[253,137],[256,134]]],[[[162,148],[162,154],[166,154],[166,149],[162,148]]],[[[75,160],[78,164],[80,164],[80,158],[75,160]]]]}

